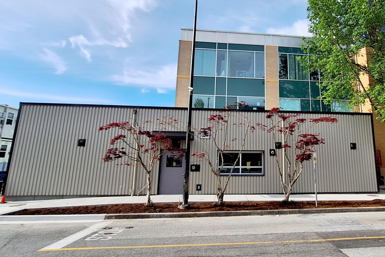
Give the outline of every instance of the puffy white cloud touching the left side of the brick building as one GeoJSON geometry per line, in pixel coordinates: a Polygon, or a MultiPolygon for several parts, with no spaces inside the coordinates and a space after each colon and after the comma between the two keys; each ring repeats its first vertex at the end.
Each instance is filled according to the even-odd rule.
{"type": "Polygon", "coordinates": [[[112,76],[112,81],[119,85],[140,86],[157,89],[158,93],[166,93],[167,89],[174,89],[176,84],[176,64],[161,67],[159,70],[142,71],[126,68],[122,75],[112,76]]]}

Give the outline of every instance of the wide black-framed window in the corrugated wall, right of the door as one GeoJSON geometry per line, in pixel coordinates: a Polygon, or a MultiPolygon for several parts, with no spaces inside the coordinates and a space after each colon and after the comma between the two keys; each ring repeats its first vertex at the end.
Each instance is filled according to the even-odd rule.
{"type": "MultiPolygon", "coordinates": [[[[226,152],[222,157],[218,154],[218,170],[223,175],[229,174],[238,157],[239,152],[226,152]],[[223,167],[222,167],[223,163],[223,167]]],[[[235,163],[233,175],[263,175],[263,152],[244,151],[235,163]]]]}

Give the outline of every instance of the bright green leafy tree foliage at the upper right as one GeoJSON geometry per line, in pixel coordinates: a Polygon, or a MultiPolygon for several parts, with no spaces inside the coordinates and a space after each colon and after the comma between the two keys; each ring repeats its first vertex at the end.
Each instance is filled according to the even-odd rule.
{"type": "Polygon", "coordinates": [[[311,39],[304,39],[301,47],[310,55],[301,64],[311,71],[320,70],[322,98],[348,96],[350,106],[368,99],[375,113],[385,121],[385,1],[373,0],[309,0],[308,18],[311,39]],[[367,47],[368,62],[356,62],[367,47]],[[360,77],[361,75],[361,77],[360,77]],[[369,85],[360,81],[363,76],[373,78],[369,85]],[[360,92],[357,83],[369,86],[360,92]]]}

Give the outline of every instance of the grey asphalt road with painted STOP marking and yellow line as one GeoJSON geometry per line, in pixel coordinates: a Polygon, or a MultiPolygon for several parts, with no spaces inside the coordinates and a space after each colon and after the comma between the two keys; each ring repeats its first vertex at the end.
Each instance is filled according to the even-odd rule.
{"type": "Polygon", "coordinates": [[[0,223],[0,256],[385,255],[385,212],[0,223]]]}

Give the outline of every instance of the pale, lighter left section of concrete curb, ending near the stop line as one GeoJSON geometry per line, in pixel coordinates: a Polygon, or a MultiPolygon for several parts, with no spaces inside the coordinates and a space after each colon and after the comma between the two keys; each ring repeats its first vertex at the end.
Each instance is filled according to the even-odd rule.
{"type": "Polygon", "coordinates": [[[0,215],[0,221],[105,220],[105,214],[0,215]]]}

